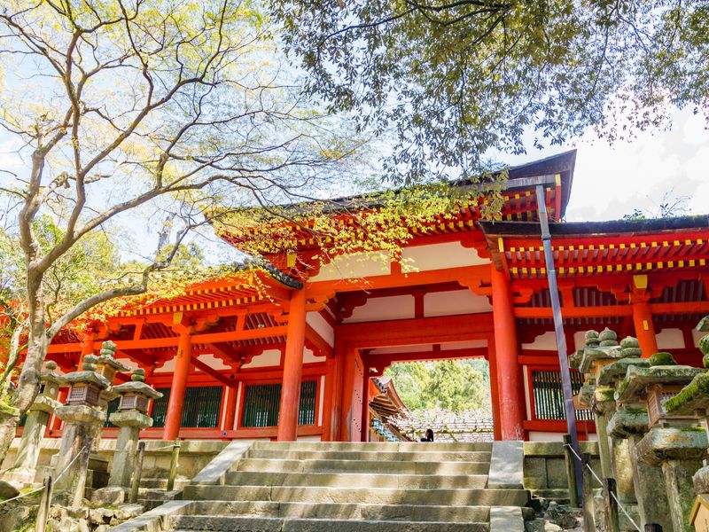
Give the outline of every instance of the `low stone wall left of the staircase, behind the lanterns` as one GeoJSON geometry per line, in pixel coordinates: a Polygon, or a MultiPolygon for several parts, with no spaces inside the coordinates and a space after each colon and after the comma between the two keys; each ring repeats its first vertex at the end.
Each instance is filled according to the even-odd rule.
{"type": "MultiPolygon", "coordinates": [[[[51,458],[56,455],[59,450],[59,442],[60,440],[53,438],[43,439],[38,463],[39,473],[37,473],[37,476],[43,476],[44,468],[50,465],[51,458]]],[[[172,442],[164,440],[147,441],[147,445],[145,446],[142,476],[144,481],[147,483],[150,483],[149,479],[161,479],[164,481],[168,478],[171,449],[164,448],[171,443],[172,442]]],[[[220,442],[216,440],[191,440],[182,442],[179,467],[177,468],[177,481],[190,480],[194,475],[199,473],[199,471],[207,465],[212,458],[219,454],[219,452],[227,446],[227,443],[228,442],[220,442]]],[[[111,463],[113,461],[115,444],[115,440],[102,440],[99,443],[98,455],[107,458],[109,463],[111,463]]],[[[2,469],[11,467],[12,464],[14,464],[18,445],[19,438],[15,438],[12,442],[12,447],[8,451],[7,457],[5,457],[2,469]]],[[[42,481],[42,478],[35,479],[35,481],[42,481]]]]}

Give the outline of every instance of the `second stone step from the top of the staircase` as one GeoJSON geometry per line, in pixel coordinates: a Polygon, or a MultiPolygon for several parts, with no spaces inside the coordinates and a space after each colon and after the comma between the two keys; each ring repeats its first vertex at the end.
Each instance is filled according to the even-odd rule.
{"type": "Polygon", "coordinates": [[[376,451],[376,450],[267,450],[251,449],[244,458],[268,460],[360,460],[370,462],[482,462],[488,451],[376,451]]]}

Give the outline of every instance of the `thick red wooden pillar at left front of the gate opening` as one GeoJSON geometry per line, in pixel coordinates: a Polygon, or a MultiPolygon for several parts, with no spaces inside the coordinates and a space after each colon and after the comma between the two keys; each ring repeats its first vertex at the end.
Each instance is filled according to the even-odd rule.
{"type": "Polygon", "coordinates": [[[288,311],[288,329],[285,339],[281,411],[278,417],[278,442],[294,442],[298,438],[300,377],[303,373],[305,345],[305,303],[305,290],[291,293],[291,308],[288,311]]]}

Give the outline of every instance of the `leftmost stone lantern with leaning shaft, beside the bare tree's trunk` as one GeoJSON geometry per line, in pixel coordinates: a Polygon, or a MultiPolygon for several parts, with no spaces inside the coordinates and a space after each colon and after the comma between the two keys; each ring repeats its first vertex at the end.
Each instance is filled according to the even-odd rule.
{"type": "Polygon", "coordinates": [[[57,395],[59,387],[65,385],[64,377],[56,373],[56,369],[57,363],[49,360],[44,364],[44,371],[40,373],[40,392],[27,411],[15,464],[6,473],[13,481],[23,484],[35,481],[42,437],[51,414],[61,406],[57,401],[57,395]]]}

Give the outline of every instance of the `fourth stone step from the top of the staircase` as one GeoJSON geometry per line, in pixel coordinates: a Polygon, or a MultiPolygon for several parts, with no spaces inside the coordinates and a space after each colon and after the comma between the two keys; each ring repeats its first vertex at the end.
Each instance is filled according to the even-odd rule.
{"type": "Polygon", "coordinates": [[[487,474],[386,474],[382,473],[272,473],[238,471],[226,473],[230,486],[329,486],[331,488],[449,489],[485,488],[487,474]]]}

